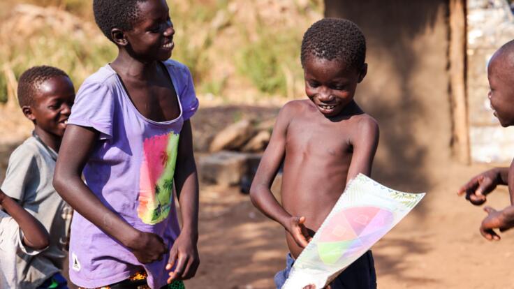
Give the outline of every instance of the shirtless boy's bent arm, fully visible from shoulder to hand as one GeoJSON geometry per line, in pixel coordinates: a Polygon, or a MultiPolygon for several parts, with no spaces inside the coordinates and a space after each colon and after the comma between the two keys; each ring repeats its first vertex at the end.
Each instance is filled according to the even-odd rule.
{"type": "Polygon", "coordinates": [[[291,216],[274,198],[270,190],[286,154],[286,131],[294,114],[294,105],[295,103],[288,103],[279,112],[270,144],[264,151],[254,181],[251,183],[250,199],[260,212],[284,226],[293,236],[298,246],[304,248],[310,238],[307,228],[303,225],[305,218],[303,216],[291,216]]]}

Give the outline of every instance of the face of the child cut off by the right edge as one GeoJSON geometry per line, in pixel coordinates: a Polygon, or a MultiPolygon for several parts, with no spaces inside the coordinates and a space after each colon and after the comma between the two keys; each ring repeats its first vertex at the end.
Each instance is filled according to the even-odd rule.
{"type": "Polygon", "coordinates": [[[508,59],[507,54],[495,53],[487,66],[491,108],[494,110],[494,116],[504,127],[514,125],[513,59],[508,59]]]}

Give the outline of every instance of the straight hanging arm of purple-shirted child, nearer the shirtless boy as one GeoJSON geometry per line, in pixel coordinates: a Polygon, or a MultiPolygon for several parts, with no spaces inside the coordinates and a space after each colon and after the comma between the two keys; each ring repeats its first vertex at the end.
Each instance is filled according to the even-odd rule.
{"type": "Polygon", "coordinates": [[[198,257],[198,174],[193,154],[191,122],[184,122],[180,133],[175,169],[175,188],[182,216],[182,230],[175,240],[166,269],[172,269],[168,283],[174,279],[191,279],[200,265],[198,257]]]}

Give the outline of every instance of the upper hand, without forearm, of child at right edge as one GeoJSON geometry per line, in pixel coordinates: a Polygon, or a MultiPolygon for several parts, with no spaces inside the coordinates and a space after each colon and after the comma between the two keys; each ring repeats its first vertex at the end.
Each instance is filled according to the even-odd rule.
{"type": "Polygon", "coordinates": [[[498,171],[496,169],[487,170],[471,178],[460,190],[458,195],[466,195],[473,205],[482,205],[486,201],[486,195],[491,193],[498,185],[498,171]]]}

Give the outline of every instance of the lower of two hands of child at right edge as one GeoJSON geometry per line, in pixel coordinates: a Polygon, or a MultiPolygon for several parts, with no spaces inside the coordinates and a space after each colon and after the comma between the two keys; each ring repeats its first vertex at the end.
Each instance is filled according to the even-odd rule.
{"type": "Polygon", "coordinates": [[[484,211],[489,214],[482,221],[482,225],[480,225],[480,233],[490,241],[499,241],[500,236],[497,232],[494,232],[494,229],[499,229],[500,232],[505,232],[506,230],[514,227],[514,219],[511,217],[512,213],[507,212],[511,211],[512,207],[507,207],[504,210],[497,211],[492,207],[484,207],[484,211]]]}

